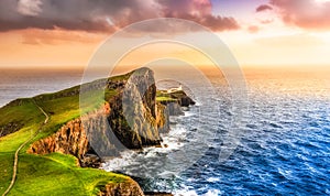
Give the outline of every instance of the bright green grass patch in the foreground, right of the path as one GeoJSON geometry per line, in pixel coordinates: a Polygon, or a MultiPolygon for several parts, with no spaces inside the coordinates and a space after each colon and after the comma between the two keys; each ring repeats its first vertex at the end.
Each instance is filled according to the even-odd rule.
{"type": "Polygon", "coordinates": [[[22,154],[16,184],[9,195],[96,195],[99,185],[129,178],[76,163],[76,157],[58,153],[22,154]]]}

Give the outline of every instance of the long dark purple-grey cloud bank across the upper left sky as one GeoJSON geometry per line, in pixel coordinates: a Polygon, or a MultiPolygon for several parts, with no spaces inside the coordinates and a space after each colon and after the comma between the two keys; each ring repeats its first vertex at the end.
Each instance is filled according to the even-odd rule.
{"type": "Polygon", "coordinates": [[[233,18],[213,15],[209,0],[0,1],[0,31],[59,28],[111,32],[116,28],[160,17],[191,20],[215,31],[239,29],[233,18]]]}

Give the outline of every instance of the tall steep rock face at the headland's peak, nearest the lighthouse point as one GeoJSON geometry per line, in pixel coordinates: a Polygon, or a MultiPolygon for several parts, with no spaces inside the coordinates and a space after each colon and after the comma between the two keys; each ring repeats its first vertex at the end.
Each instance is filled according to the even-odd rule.
{"type": "MultiPolygon", "coordinates": [[[[129,149],[161,143],[156,115],[156,86],[148,68],[135,70],[118,96],[110,100],[109,124],[117,138],[129,149]]],[[[163,110],[158,110],[163,112],[163,110]]],[[[160,124],[162,126],[162,124],[160,124]]],[[[162,129],[164,129],[162,127],[162,129]]]]}

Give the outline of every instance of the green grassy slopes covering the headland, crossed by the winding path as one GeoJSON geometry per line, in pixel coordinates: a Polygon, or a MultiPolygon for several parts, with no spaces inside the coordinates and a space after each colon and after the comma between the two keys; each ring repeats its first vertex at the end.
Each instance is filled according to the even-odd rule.
{"type": "MultiPolygon", "coordinates": [[[[114,79],[122,79],[116,77],[114,79]]],[[[51,135],[66,122],[76,119],[79,110],[79,87],[73,87],[55,94],[46,94],[34,98],[18,99],[0,108],[0,128],[9,123],[19,124],[19,131],[0,138],[0,194],[10,184],[13,159],[16,149],[31,135],[37,132],[21,151],[18,165],[16,182],[9,195],[95,195],[107,183],[119,183],[127,176],[107,173],[101,170],[81,168],[72,155],[53,153],[48,155],[28,154],[30,144],[41,138],[51,135]],[[42,126],[45,116],[40,106],[50,116],[42,126]]],[[[102,90],[92,94],[103,94],[102,90]]],[[[106,96],[116,95],[116,89],[108,89],[106,96]]],[[[95,102],[87,110],[97,108],[103,100],[90,96],[95,102]]]]}

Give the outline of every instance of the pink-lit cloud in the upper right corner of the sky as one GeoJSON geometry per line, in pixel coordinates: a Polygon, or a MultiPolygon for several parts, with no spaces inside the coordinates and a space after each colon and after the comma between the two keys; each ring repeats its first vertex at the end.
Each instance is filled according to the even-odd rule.
{"type": "Polygon", "coordinates": [[[271,0],[283,21],[309,30],[330,30],[330,2],[316,0],[271,0]]]}

